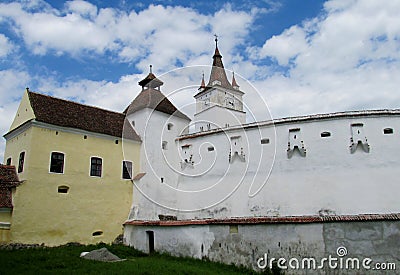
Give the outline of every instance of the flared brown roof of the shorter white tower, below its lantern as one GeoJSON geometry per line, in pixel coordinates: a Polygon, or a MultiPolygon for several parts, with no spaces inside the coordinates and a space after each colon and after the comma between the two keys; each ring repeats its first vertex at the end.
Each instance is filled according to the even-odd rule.
{"type": "Polygon", "coordinates": [[[132,114],[144,108],[150,108],[168,115],[174,115],[183,119],[190,120],[185,114],[178,111],[178,109],[168,100],[160,91],[148,88],[140,92],[140,94],[132,101],[132,103],[125,109],[124,113],[127,115],[132,114]]]}

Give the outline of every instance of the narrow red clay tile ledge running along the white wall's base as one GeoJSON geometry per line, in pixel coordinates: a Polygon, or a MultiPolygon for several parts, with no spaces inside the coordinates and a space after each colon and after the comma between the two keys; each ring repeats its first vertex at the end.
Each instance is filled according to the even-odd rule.
{"type": "Polygon", "coordinates": [[[153,226],[182,226],[182,225],[210,225],[210,224],[271,224],[271,223],[321,223],[321,222],[349,222],[349,221],[380,221],[400,220],[400,213],[391,214],[360,214],[335,216],[285,216],[285,217],[236,217],[226,219],[202,220],[129,220],[126,225],[153,225],[153,226]]]}

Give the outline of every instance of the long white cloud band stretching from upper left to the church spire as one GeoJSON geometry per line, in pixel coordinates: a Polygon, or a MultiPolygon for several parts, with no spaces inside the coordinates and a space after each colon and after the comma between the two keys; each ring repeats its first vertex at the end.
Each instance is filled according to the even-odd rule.
{"type": "Polygon", "coordinates": [[[126,13],[113,8],[98,10],[85,1],[69,1],[63,11],[0,4],[0,18],[15,22],[15,32],[34,54],[80,57],[91,52],[111,53],[120,61],[135,62],[141,70],[153,63],[163,71],[208,51],[214,32],[222,38],[225,52],[231,52],[243,43],[257,12],[261,11],[233,11],[230,5],[204,15],[180,6],[150,5],[126,13]]]}

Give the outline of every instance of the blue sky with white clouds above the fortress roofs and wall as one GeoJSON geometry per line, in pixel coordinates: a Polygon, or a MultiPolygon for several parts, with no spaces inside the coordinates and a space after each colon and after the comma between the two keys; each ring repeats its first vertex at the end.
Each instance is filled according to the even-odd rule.
{"type": "Polygon", "coordinates": [[[1,1],[0,130],[25,87],[122,111],[149,64],[211,65],[214,33],[273,117],[399,108],[399,13],[400,0],[1,1]]]}

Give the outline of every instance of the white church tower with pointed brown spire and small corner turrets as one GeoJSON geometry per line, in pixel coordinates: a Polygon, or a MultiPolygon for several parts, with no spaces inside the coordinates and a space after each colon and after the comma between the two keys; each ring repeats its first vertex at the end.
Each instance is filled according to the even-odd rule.
{"type": "Polygon", "coordinates": [[[194,96],[196,132],[226,128],[246,122],[242,101],[244,93],[240,91],[234,74],[231,83],[226,76],[222,55],[218,49],[217,36],[210,79],[206,86],[203,74],[198,90],[199,92],[194,96]]]}

